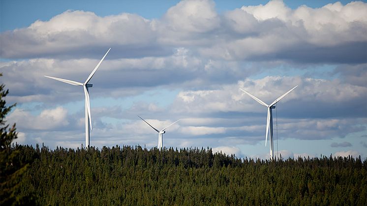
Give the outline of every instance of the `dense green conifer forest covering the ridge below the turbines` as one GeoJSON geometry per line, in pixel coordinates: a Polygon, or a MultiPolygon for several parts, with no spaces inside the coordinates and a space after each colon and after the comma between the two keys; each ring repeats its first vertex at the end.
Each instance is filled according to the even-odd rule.
{"type": "MultiPolygon", "coordinates": [[[[37,205],[366,205],[367,159],[241,159],[210,148],[13,145],[37,205]]],[[[6,167],[12,167],[11,163],[6,167]]]]}

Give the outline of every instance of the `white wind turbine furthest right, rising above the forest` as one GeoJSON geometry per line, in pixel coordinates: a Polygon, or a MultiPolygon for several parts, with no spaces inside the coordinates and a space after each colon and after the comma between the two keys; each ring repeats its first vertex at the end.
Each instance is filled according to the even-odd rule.
{"type": "Polygon", "coordinates": [[[269,132],[269,127],[270,127],[270,134],[269,134],[269,147],[270,147],[270,158],[273,159],[274,158],[274,138],[273,138],[273,109],[275,109],[275,104],[280,101],[285,95],[287,95],[289,92],[291,92],[293,89],[297,88],[298,85],[294,88],[292,88],[291,90],[287,91],[285,94],[281,95],[279,98],[275,99],[275,101],[273,103],[271,103],[270,105],[265,104],[263,101],[261,101],[259,98],[257,98],[256,96],[248,93],[247,91],[245,91],[244,89],[240,88],[242,91],[244,91],[246,94],[248,94],[251,98],[253,98],[254,100],[256,100],[257,102],[259,102],[261,105],[264,105],[265,107],[268,107],[268,117],[266,118],[266,135],[265,135],[265,147],[266,147],[266,142],[268,140],[268,132],[269,132]]]}

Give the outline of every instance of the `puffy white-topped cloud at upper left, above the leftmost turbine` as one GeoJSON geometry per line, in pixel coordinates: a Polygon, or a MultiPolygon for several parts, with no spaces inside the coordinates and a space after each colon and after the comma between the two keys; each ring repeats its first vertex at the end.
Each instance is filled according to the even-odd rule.
{"type": "MultiPolygon", "coordinates": [[[[116,45],[120,56],[137,55],[136,51],[153,55],[155,42],[151,21],[141,16],[122,13],[99,17],[93,12],[71,10],[49,21],[37,20],[28,28],[2,32],[0,38],[3,58],[95,57],[93,50],[103,51],[108,48],[105,45],[116,45]],[[86,49],[91,46],[93,50],[86,49]],[[120,50],[119,46],[130,51],[120,50]]],[[[155,49],[157,52],[159,47],[155,49]]]]}

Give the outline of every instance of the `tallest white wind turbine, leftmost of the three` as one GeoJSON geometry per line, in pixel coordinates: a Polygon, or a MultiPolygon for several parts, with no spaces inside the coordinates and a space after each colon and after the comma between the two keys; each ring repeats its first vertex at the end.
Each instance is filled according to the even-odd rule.
{"type": "Polygon", "coordinates": [[[97,66],[95,66],[95,68],[93,69],[92,73],[89,75],[89,77],[87,78],[87,80],[84,83],[80,83],[80,82],[75,82],[75,81],[71,81],[71,80],[66,80],[66,79],[61,79],[61,78],[56,78],[56,77],[50,77],[50,76],[46,76],[47,78],[51,78],[60,82],[64,82],[70,85],[75,85],[75,86],[83,86],[84,88],[84,95],[85,95],[85,118],[86,118],[86,148],[89,147],[90,145],[90,141],[89,141],[89,127],[91,127],[92,130],[92,118],[91,118],[91,104],[89,101],[89,92],[88,92],[88,88],[91,88],[93,85],[92,84],[88,84],[88,82],[92,79],[95,71],[97,71],[99,65],[102,63],[103,59],[107,56],[108,52],[111,50],[108,49],[108,51],[106,52],[106,54],[103,56],[103,58],[98,62],[97,66]]]}

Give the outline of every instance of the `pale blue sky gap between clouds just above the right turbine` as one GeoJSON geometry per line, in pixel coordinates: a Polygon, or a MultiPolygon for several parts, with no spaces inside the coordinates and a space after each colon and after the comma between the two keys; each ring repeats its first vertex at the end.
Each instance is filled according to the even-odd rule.
{"type": "Polygon", "coordinates": [[[256,80],[263,79],[267,76],[300,76],[304,78],[333,80],[339,78],[338,74],[334,74],[335,68],[336,65],[334,64],[315,64],[304,68],[280,65],[267,69],[261,73],[251,75],[250,78],[256,80]]]}

